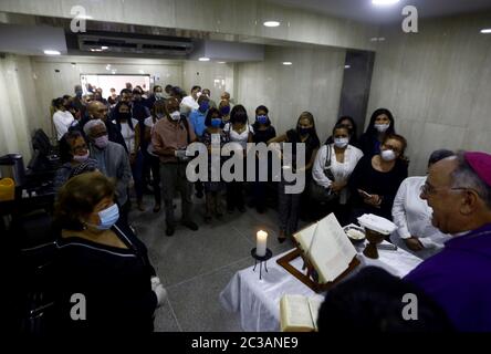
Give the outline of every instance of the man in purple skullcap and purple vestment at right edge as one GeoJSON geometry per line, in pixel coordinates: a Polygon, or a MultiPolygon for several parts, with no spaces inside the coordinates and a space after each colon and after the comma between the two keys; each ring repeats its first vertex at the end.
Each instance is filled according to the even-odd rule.
{"type": "Polygon", "coordinates": [[[406,280],[447,312],[458,331],[491,331],[491,155],[461,152],[429,168],[421,187],[431,223],[452,235],[406,280]]]}

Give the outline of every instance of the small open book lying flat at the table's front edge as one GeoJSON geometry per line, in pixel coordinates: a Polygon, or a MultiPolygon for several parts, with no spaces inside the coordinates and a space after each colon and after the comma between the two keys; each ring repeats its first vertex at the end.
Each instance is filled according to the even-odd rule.
{"type": "Polygon", "coordinates": [[[283,295],[280,300],[282,332],[317,331],[317,315],[322,300],[303,295],[283,295]]]}

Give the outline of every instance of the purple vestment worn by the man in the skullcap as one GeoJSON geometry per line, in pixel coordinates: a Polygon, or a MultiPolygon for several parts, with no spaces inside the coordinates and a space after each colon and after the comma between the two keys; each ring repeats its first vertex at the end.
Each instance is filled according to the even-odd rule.
{"type": "Polygon", "coordinates": [[[491,223],[447,241],[405,280],[437,301],[458,331],[491,332],[491,223]]]}

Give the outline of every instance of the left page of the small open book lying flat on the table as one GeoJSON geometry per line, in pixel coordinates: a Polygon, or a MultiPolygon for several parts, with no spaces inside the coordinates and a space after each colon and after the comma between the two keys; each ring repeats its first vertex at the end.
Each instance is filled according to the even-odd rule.
{"type": "Polygon", "coordinates": [[[280,301],[280,321],[282,332],[313,331],[314,323],[307,298],[283,295],[280,301]]]}

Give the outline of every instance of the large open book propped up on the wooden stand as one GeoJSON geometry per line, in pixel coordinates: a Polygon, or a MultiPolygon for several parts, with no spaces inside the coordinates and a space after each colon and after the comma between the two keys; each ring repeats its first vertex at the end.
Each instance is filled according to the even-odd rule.
{"type": "Polygon", "coordinates": [[[356,249],[334,214],[293,235],[318,275],[318,283],[335,281],[356,257],[356,249]]]}

